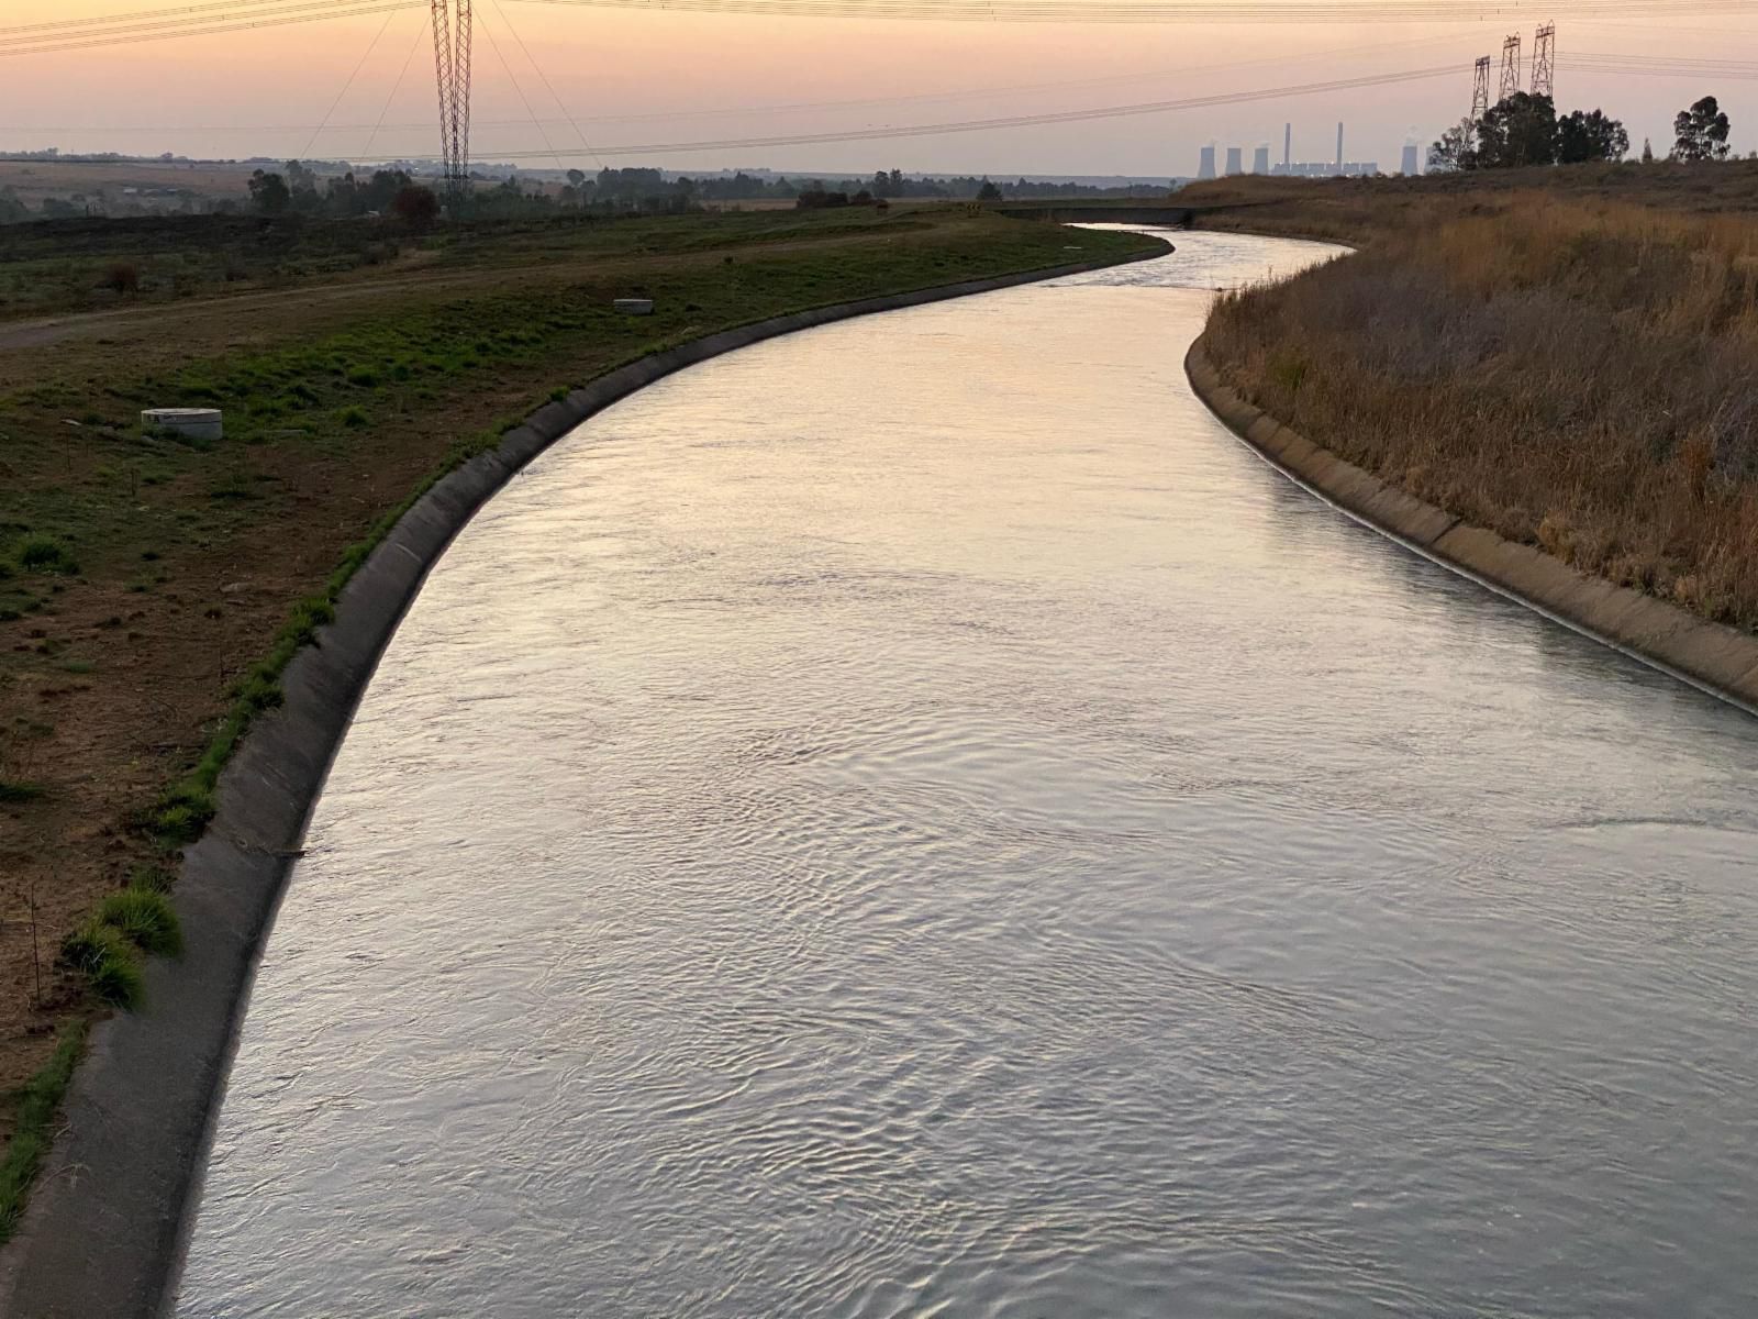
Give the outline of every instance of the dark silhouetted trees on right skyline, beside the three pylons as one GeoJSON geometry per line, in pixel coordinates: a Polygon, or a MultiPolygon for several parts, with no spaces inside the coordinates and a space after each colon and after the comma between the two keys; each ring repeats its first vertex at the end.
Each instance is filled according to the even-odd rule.
{"type": "MultiPolygon", "coordinates": [[[[1674,120],[1672,160],[1725,160],[1728,116],[1714,97],[1704,97],[1674,120]]],[[[1605,111],[1556,113],[1551,97],[1515,91],[1477,120],[1449,128],[1429,148],[1429,171],[1519,169],[1522,165],[1579,165],[1617,162],[1630,155],[1630,134],[1605,111]]],[[[1642,144],[1642,160],[1654,158],[1642,144]]]]}

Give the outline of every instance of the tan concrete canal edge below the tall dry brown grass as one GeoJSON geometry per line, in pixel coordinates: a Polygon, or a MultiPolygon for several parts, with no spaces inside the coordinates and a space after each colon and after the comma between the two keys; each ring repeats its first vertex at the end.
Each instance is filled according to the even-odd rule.
{"type": "Polygon", "coordinates": [[[1345,463],[1239,397],[1215,369],[1202,336],[1185,355],[1185,375],[1234,434],[1327,503],[1493,591],[1758,714],[1758,637],[1466,526],[1345,463]]]}

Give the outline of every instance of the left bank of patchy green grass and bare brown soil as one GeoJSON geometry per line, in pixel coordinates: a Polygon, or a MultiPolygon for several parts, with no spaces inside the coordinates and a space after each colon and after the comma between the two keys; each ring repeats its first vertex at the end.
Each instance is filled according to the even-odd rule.
{"type": "Polygon", "coordinates": [[[176,944],[158,893],[220,767],[436,475],[668,343],[1151,246],[970,208],[0,232],[0,1240],[84,1022],[176,944]],[[125,262],[130,297],[100,287],[125,262]],[[142,434],[163,404],[227,438],[142,434]]]}

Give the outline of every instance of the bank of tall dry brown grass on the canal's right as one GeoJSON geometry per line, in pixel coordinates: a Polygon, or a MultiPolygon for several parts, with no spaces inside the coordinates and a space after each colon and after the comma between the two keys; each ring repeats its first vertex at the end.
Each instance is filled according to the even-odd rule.
{"type": "Polygon", "coordinates": [[[1208,348],[1313,443],[1471,524],[1758,630],[1758,167],[1192,190],[1361,251],[1208,348]]]}

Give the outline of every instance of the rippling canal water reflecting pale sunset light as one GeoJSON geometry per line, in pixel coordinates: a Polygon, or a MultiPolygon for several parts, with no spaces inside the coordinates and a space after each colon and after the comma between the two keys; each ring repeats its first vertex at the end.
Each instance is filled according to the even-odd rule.
{"type": "Polygon", "coordinates": [[[1167,259],[673,376],[459,538],[178,1314],[1749,1315],[1758,723],[1192,397],[1167,259]]]}

